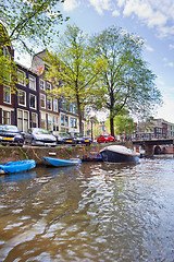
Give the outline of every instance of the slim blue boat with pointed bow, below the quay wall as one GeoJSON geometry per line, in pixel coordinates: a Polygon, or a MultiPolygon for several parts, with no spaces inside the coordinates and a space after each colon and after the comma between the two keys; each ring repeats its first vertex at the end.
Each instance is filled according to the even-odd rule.
{"type": "Polygon", "coordinates": [[[51,164],[52,166],[72,166],[72,165],[77,165],[82,163],[80,159],[78,158],[71,158],[71,159],[61,159],[57,157],[50,157],[50,156],[42,156],[42,158],[51,164]]]}

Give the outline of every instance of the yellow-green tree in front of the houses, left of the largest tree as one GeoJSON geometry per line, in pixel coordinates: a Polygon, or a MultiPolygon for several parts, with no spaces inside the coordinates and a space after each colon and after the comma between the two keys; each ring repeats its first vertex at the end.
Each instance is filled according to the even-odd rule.
{"type": "Polygon", "coordinates": [[[62,96],[76,104],[82,132],[83,112],[90,103],[95,84],[99,82],[104,60],[102,57],[94,57],[87,35],[77,26],[67,25],[59,38],[58,51],[48,52],[46,62],[49,64],[46,78],[54,85],[50,95],[62,96]]]}

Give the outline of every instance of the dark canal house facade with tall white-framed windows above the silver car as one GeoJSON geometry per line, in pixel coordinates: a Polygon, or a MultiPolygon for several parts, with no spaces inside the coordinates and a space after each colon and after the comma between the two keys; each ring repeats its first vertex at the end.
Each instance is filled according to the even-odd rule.
{"type": "Polygon", "coordinates": [[[17,64],[15,94],[15,124],[21,131],[40,127],[39,118],[39,82],[32,70],[17,64]]]}

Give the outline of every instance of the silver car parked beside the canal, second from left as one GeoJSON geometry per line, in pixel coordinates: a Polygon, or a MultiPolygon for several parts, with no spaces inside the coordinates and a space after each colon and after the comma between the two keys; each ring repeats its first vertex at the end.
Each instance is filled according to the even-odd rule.
{"type": "Polygon", "coordinates": [[[57,145],[57,138],[50,131],[41,128],[32,128],[24,135],[25,144],[32,145],[57,145]]]}

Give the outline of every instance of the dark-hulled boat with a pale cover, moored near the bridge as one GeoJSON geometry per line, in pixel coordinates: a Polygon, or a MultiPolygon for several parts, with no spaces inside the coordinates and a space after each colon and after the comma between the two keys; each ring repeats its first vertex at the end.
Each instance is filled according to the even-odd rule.
{"type": "Polygon", "coordinates": [[[103,162],[110,163],[138,163],[139,153],[123,145],[109,145],[100,151],[103,162]]]}

